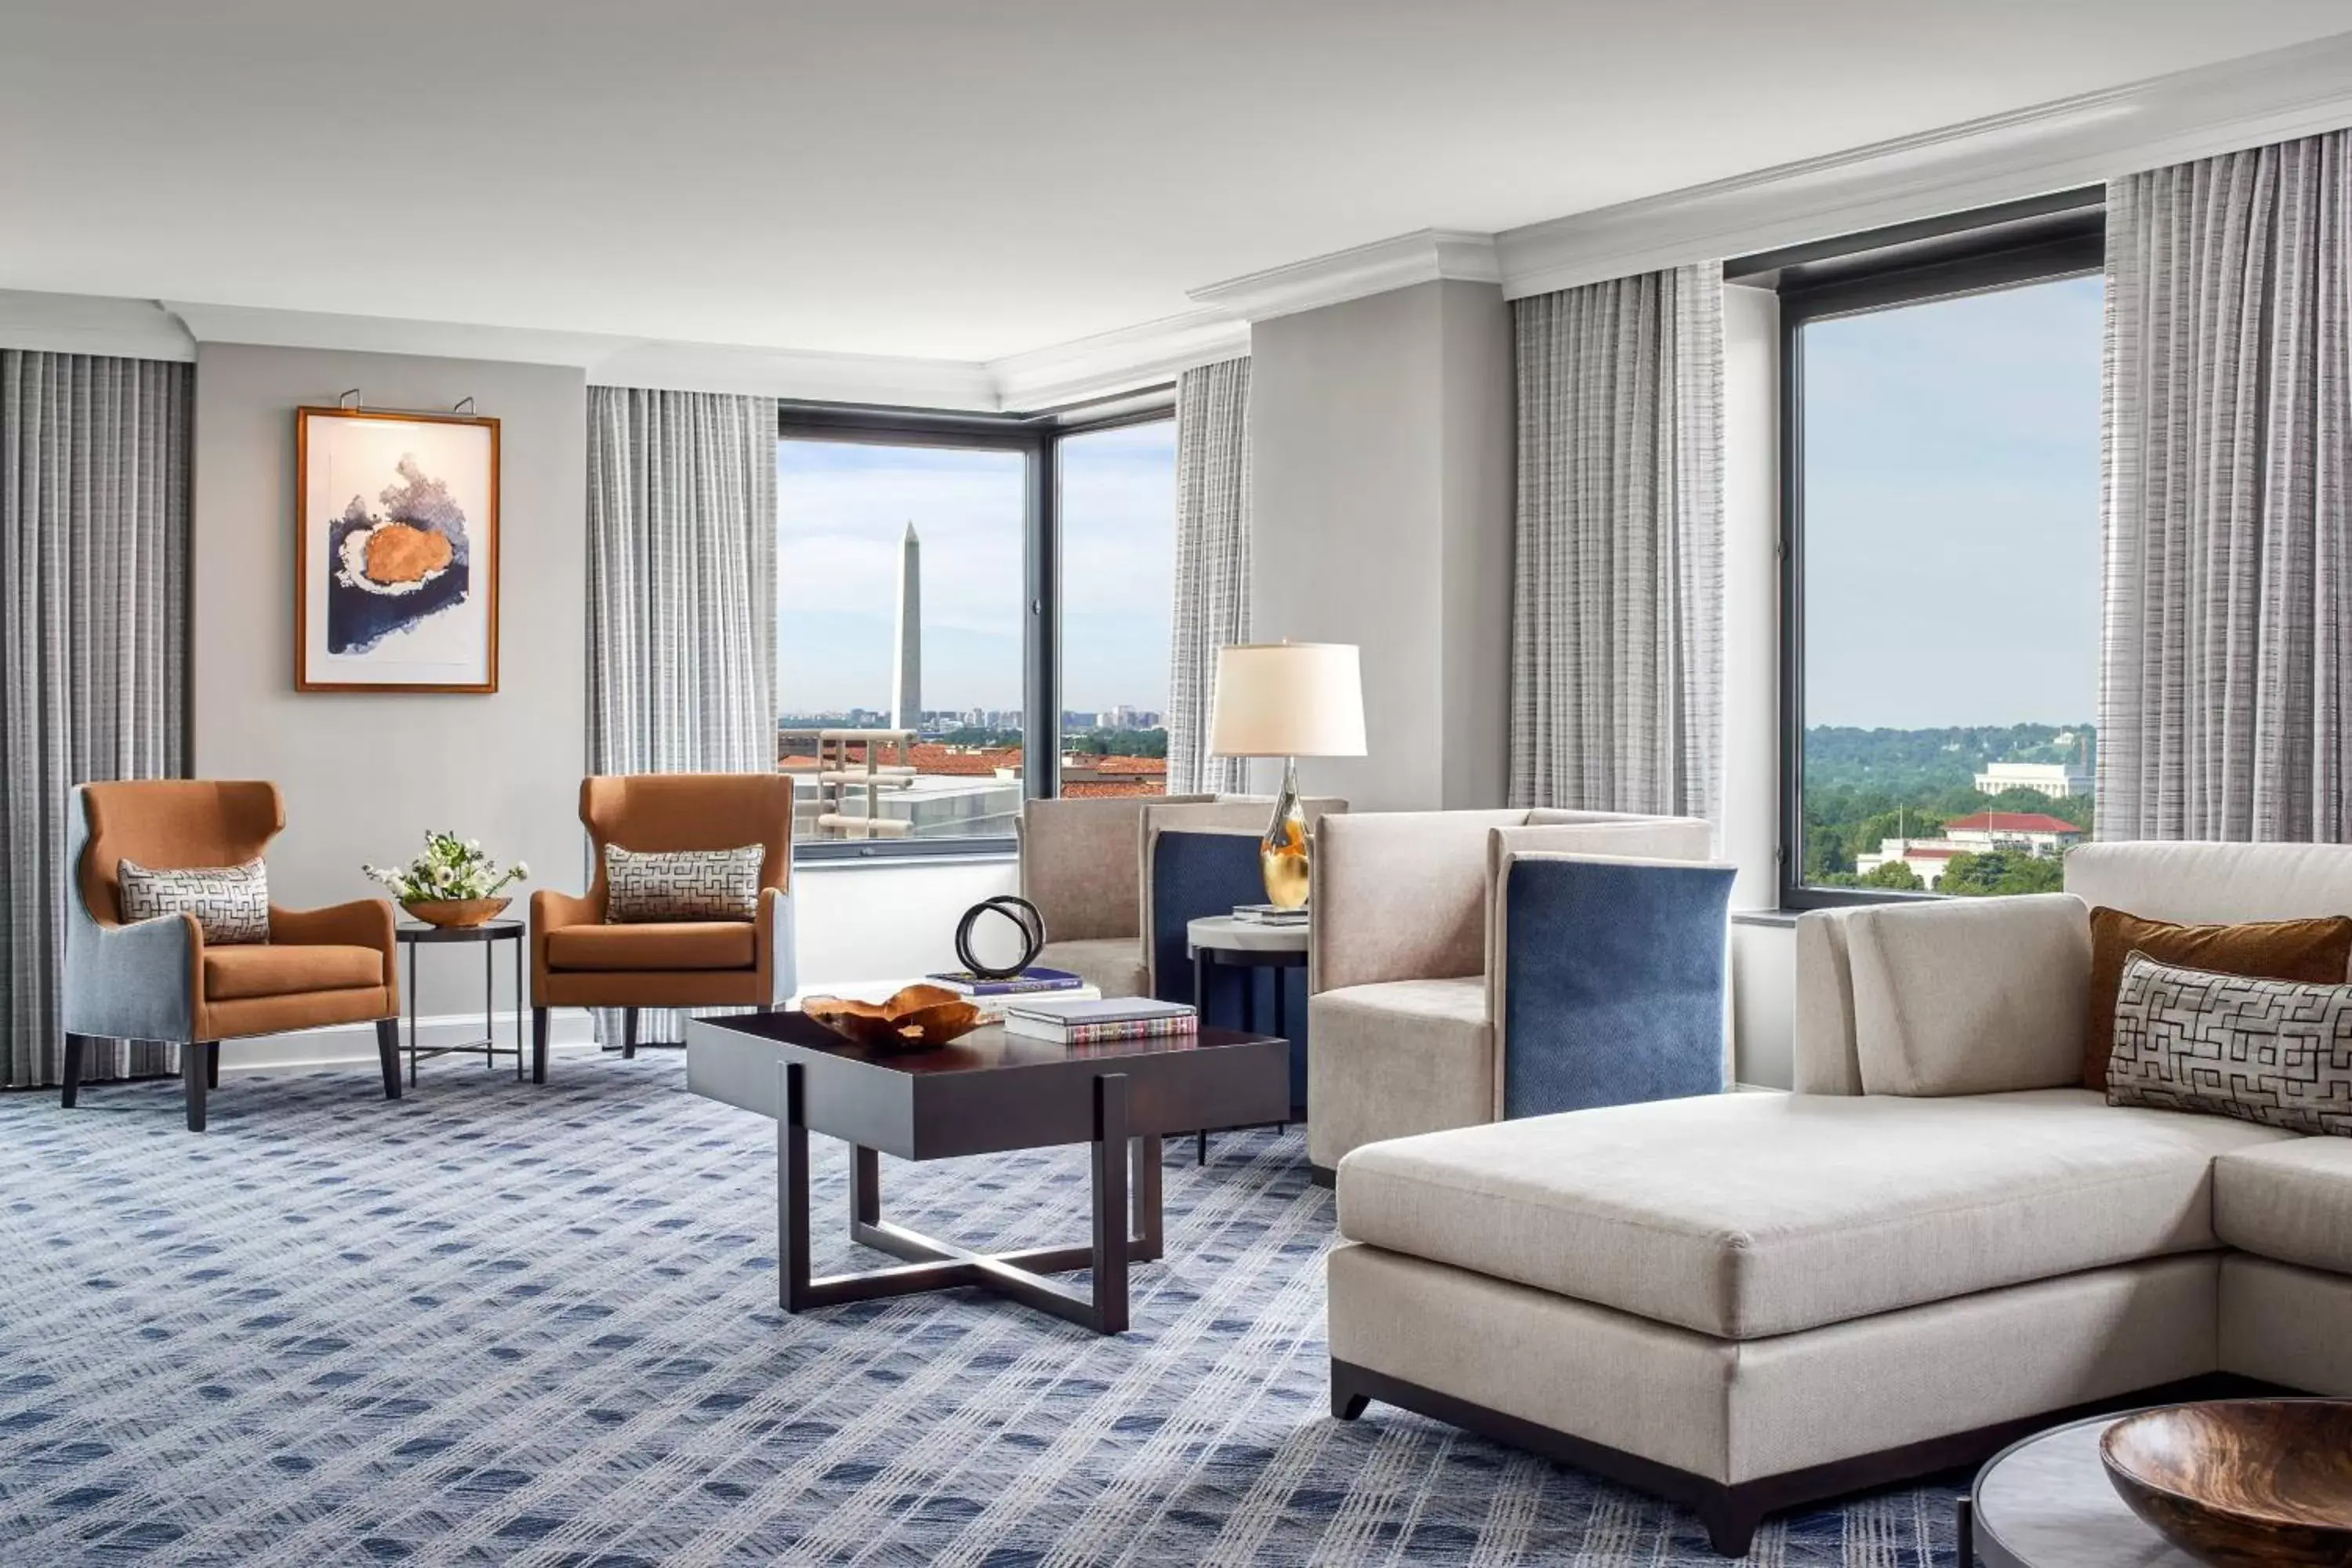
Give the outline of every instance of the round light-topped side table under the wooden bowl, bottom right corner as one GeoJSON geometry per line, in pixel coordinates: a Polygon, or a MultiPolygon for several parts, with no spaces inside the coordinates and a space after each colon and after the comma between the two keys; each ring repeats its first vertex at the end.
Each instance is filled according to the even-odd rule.
{"type": "Polygon", "coordinates": [[[1959,1502],[1962,1568],[2197,1568],[2124,1505],[2098,1439],[2131,1410],[2037,1432],[1985,1460],[1959,1502]]]}

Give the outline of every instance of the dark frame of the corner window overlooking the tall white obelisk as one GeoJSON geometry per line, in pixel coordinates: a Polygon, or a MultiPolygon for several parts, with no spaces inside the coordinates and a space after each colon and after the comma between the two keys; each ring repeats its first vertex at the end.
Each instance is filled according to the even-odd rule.
{"type": "MultiPolygon", "coordinates": [[[[776,444],[790,440],[873,447],[960,447],[1023,456],[1021,559],[1021,797],[1061,795],[1061,442],[1176,418],[1176,383],[1122,393],[1117,400],[1042,414],[896,409],[840,402],[776,404],[776,444]],[[1040,745],[1044,741],[1044,745],[1040,745]]],[[[779,541],[781,545],[781,541],[779,541]]],[[[781,562],[781,548],[779,548],[781,562]]],[[[769,717],[774,724],[774,717],[769,717]]],[[[795,839],[793,863],[873,865],[889,860],[1002,858],[1021,851],[1018,835],[946,839],[795,839]]]]}

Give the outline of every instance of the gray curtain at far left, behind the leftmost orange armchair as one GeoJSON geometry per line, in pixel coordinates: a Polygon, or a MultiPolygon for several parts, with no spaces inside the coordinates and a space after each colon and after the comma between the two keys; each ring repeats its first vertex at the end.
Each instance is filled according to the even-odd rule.
{"type": "MultiPolygon", "coordinates": [[[[56,1084],[75,783],[186,771],[195,367],[0,350],[0,1070],[56,1084]]],[[[176,1070],[94,1044],[85,1077],[176,1070]]]]}

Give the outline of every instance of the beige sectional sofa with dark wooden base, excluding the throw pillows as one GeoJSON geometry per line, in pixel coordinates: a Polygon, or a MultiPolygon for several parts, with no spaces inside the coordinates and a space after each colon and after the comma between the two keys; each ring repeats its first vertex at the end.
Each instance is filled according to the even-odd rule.
{"type": "Polygon", "coordinates": [[[2067,889],[1806,914],[1799,1093],[1357,1147],[1334,1413],[1550,1453],[1736,1556],[1766,1512],[2065,1410],[2216,1375],[2352,1394],[2352,1140],[2077,1086],[2091,905],[2352,912],[2352,846],[2091,844],[2067,889]]]}

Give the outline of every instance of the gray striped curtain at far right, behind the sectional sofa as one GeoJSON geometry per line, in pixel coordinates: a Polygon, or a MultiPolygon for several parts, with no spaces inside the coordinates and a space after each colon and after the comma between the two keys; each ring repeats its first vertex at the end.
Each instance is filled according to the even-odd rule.
{"type": "Polygon", "coordinates": [[[2103,839],[2352,839],[2352,132],[2107,186],[2103,839]]]}

